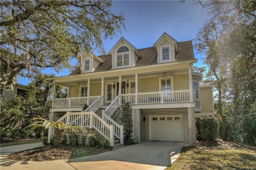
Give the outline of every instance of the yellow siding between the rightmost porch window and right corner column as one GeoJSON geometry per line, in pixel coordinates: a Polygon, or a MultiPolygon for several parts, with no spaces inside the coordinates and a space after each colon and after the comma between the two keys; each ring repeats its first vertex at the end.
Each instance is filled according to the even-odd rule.
{"type": "Polygon", "coordinates": [[[188,74],[173,75],[173,90],[188,90],[188,74]]]}

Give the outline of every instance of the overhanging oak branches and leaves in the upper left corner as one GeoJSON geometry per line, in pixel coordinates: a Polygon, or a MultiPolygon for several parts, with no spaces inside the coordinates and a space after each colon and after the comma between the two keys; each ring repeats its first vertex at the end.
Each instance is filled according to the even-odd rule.
{"type": "Polygon", "coordinates": [[[82,51],[104,53],[102,40],[124,27],[111,7],[107,0],[1,0],[1,89],[16,75],[69,68],[82,51]]]}

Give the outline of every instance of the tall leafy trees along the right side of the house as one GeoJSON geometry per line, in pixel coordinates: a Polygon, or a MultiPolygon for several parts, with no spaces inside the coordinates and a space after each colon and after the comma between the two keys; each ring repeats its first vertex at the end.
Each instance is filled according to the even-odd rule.
{"type": "Polygon", "coordinates": [[[206,55],[207,81],[218,91],[223,140],[255,142],[250,127],[256,117],[256,1],[195,3],[204,6],[209,15],[195,39],[195,48],[206,55]]]}

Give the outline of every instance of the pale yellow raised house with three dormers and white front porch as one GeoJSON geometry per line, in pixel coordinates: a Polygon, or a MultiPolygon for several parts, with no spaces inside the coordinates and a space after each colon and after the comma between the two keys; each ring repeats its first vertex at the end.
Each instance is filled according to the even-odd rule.
{"type": "Polygon", "coordinates": [[[67,98],[53,99],[50,119],[67,112],[59,121],[96,129],[114,146],[114,139],[123,143],[120,105],[129,102],[134,142],[196,146],[195,116],[214,114],[212,87],[200,87],[202,74],[192,73],[196,62],[192,41],[177,42],[164,33],[153,47],[136,49],[120,38],[108,55],[82,53],[82,74],[77,68],[68,76],[48,78],[55,87],[68,87],[67,98]]]}

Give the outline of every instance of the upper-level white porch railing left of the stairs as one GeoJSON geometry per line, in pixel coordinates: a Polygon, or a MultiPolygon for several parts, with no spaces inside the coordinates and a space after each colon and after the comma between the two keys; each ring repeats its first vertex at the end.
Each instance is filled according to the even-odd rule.
{"type": "Polygon", "coordinates": [[[69,98],[54,99],[52,107],[53,108],[84,107],[86,104],[91,105],[99,97],[100,96],[90,96],[89,100],[88,100],[88,97],[69,97],[69,98]]]}

